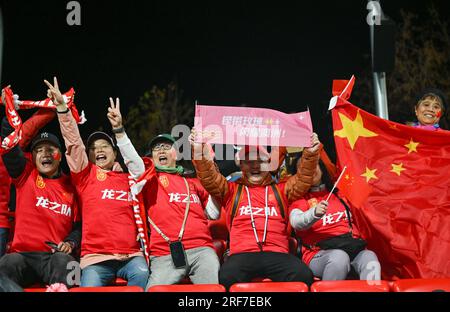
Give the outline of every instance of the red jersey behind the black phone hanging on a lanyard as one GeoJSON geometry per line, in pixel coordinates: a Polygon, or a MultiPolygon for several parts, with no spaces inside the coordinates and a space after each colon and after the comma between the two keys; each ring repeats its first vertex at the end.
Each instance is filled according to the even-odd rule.
{"type": "MultiPolygon", "coordinates": [[[[158,172],[156,177],[147,182],[143,190],[147,214],[171,241],[176,241],[183,224],[186,203],[189,200],[190,207],[182,239],[183,246],[186,250],[197,247],[213,248],[204,209],[209,194],[198,179],[186,179],[186,181],[189,185],[189,198],[183,177],[158,172]]],[[[170,254],[168,243],[152,226],[150,227],[150,255],[170,254]]]]}

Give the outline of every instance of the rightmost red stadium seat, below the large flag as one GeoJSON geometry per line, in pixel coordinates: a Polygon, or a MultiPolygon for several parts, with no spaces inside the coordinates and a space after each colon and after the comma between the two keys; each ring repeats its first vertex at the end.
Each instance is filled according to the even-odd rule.
{"type": "Polygon", "coordinates": [[[443,279],[402,279],[392,285],[395,292],[450,291],[450,278],[443,279]]]}

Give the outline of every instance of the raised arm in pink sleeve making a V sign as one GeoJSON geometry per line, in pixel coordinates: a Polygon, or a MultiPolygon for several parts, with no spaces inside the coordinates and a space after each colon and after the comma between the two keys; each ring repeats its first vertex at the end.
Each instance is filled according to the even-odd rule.
{"type": "Polygon", "coordinates": [[[61,91],[59,91],[56,77],[53,78],[53,85],[47,80],[44,80],[44,82],[48,87],[47,96],[52,99],[58,113],[59,126],[66,145],[67,164],[71,172],[79,173],[87,167],[89,160],[86,154],[86,147],[83,144],[80,131],[78,130],[77,122],[67,107],[61,91]]]}

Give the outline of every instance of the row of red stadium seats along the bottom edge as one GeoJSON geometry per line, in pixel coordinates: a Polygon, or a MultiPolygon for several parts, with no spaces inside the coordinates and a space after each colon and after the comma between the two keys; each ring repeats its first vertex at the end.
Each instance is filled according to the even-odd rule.
{"type": "MultiPolygon", "coordinates": [[[[45,288],[27,288],[26,292],[45,292],[45,288]]],[[[403,279],[389,281],[319,281],[310,288],[302,282],[237,283],[230,292],[448,292],[450,279],[403,279]]],[[[143,292],[137,286],[75,287],[70,292],[143,292]]],[[[219,284],[158,285],[148,292],[226,292],[219,284]]]]}

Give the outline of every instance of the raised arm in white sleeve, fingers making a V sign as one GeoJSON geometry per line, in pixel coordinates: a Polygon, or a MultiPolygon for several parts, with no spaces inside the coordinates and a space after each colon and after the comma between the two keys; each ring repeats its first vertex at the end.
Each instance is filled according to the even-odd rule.
{"type": "Polygon", "coordinates": [[[122,123],[122,114],[120,113],[120,100],[116,98],[116,103],[112,98],[109,98],[108,120],[111,123],[112,131],[116,136],[117,147],[120,154],[122,154],[128,172],[133,178],[138,179],[145,171],[144,161],[137,153],[127,134],[122,123]]]}

